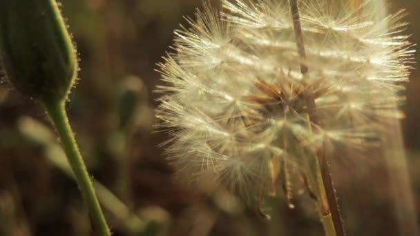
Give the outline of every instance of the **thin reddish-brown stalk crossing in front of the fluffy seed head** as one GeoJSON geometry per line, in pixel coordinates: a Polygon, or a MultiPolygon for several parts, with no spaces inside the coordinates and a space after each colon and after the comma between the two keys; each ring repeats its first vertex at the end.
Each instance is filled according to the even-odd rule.
{"type": "MultiPolygon", "coordinates": [[[[292,12],[294,35],[296,38],[296,46],[300,57],[300,72],[305,76],[308,72],[308,68],[304,61],[306,59],[305,45],[303,43],[302,27],[300,26],[300,15],[298,10],[297,0],[289,0],[290,11],[292,12]]],[[[312,88],[309,86],[307,91],[307,108],[309,110],[309,120],[314,126],[318,126],[318,114],[316,112],[315,99],[312,96],[312,88]]],[[[324,148],[321,147],[316,153],[316,159],[318,160],[316,166],[316,182],[318,184],[319,195],[318,198],[321,201],[321,215],[325,233],[327,235],[344,236],[345,231],[341,220],[341,215],[338,210],[338,203],[334,185],[332,183],[332,177],[330,168],[325,157],[324,148]],[[319,175],[321,174],[321,178],[319,175]],[[332,229],[334,227],[334,229],[332,229]]]]}

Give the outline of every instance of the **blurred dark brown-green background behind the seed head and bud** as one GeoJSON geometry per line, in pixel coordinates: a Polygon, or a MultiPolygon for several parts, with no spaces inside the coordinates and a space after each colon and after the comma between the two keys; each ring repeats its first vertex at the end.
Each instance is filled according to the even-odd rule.
{"type": "MultiPolygon", "coordinates": [[[[114,235],[323,235],[305,194],[293,210],[284,197],[267,199],[266,221],[178,181],[166,164],[158,145],[168,136],[152,127],[160,83],[155,63],[170,51],[173,30],[186,23],[182,16],[193,17],[201,1],[61,3],[82,69],[67,110],[114,235]]],[[[420,1],[390,1],[390,9],[399,8],[408,10],[407,33],[420,43],[420,1]]],[[[360,168],[354,162],[333,173],[348,235],[414,235],[419,226],[420,70],[406,85],[408,170],[402,161],[401,168],[368,170],[370,179],[341,181],[360,168]],[[379,190],[366,191],[371,187],[379,190]]],[[[39,104],[0,85],[0,236],[95,235],[52,131],[39,104]]]]}

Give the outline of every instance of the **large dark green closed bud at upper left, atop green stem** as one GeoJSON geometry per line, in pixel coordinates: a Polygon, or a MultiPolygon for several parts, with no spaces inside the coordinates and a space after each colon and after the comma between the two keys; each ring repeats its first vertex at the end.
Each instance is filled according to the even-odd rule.
{"type": "Polygon", "coordinates": [[[55,0],[0,1],[0,61],[24,95],[63,101],[77,74],[77,56],[55,0]]]}

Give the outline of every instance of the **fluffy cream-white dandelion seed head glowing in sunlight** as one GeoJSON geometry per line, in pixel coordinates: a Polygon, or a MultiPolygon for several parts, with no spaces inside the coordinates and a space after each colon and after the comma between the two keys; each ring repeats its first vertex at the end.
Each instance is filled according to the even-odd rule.
{"type": "Polygon", "coordinates": [[[305,59],[287,1],[222,0],[222,12],[204,4],[175,30],[175,52],[159,64],[157,116],[178,172],[256,206],[276,178],[274,163],[299,170],[321,144],[376,144],[381,121],[402,117],[401,81],[414,53],[401,33],[405,13],[376,17],[372,1],[338,2],[300,1],[305,59]],[[319,124],[308,118],[309,97],[319,124]]]}

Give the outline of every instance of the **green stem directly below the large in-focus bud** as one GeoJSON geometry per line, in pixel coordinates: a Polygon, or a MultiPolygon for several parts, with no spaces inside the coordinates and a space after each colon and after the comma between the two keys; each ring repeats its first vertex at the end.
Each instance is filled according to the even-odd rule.
{"type": "Polygon", "coordinates": [[[110,236],[111,232],[106,224],[104,214],[102,213],[101,206],[99,205],[95,190],[93,189],[92,181],[90,180],[84,160],[82,155],[80,155],[79,148],[77,147],[73,132],[68,123],[68,117],[66,110],[64,109],[64,101],[44,101],[43,104],[57,130],[61,145],[66,152],[73,173],[75,173],[77,184],[79,184],[84,201],[88,206],[90,218],[93,221],[93,226],[97,235],[110,236]]]}

